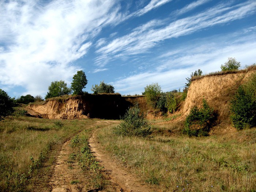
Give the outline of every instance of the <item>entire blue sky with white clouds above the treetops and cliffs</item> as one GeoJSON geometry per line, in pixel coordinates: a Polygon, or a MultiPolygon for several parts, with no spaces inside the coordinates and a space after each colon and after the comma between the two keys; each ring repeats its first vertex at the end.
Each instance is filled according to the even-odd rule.
{"type": "Polygon", "coordinates": [[[78,70],[122,95],[163,91],[220,71],[228,57],[256,63],[255,0],[0,1],[0,89],[41,95],[78,70]]]}

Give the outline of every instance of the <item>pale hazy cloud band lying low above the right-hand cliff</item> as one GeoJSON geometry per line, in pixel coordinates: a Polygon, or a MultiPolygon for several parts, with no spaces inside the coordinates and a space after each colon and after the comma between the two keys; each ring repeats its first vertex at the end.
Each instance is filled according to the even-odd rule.
{"type": "Polygon", "coordinates": [[[220,35],[194,39],[175,50],[161,54],[155,59],[158,61],[157,65],[147,71],[120,78],[113,85],[117,92],[124,94],[140,94],[143,87],[156,82],[161,85],[163,91],[178,88],[182,90],[186,82],[185,77],[189,77],[191,72],[199,68],[203,74],[219,71],[221,64],[225,63],[228,57],[236,57],[242,66],[256,63],[255,47],[255,34],[241,31],[225,37],[220,35]]]}

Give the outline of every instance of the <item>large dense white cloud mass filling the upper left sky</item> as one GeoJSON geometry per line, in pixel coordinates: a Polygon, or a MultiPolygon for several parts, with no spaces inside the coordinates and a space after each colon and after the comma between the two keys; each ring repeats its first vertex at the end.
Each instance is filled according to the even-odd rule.
{"type": "Polygon", "coordinates": [[[1,1],[0,83],[45,94],[53,80],[69,82],[77,70],[69,63],[119,19],[118,10],[114,0],[1,1]]]}

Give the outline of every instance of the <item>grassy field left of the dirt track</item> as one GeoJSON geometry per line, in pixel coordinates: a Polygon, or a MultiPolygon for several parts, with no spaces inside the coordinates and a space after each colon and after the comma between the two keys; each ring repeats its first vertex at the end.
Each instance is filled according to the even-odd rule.
{"type": "Polygon", "coordinates": [[[9,117],[0,122],[1,191],[47,188],[58,147],[93,120],[9,117]]]}

